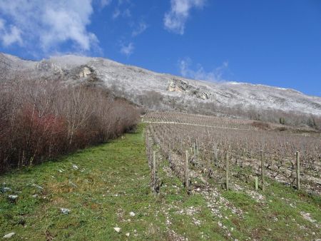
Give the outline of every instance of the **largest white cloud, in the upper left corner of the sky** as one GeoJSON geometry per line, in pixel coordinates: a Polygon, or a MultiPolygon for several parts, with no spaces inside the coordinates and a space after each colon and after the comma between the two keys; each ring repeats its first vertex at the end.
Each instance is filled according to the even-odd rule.
{"type": "MultiPolygon", "coordinates": [[[[102,1],[107,4],[107,1],[102,1]]],[[[0,0],[1,15],[11,19],[11,32],[2,38],[4,45],[22,43],[42,51],[56,51],[61,43],[71,41],[79,51],[89,51],[98,43],[86,26],[93,14],[91,0],[0,0]]]]}

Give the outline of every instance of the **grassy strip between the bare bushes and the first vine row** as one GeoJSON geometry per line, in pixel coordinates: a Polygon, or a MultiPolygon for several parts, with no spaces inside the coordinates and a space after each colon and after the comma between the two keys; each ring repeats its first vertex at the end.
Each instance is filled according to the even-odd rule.
{"type": "Polygon", "coordinates": [[[136,230],[147,238],[153,217],[145,216],[152,200],[142,128],[58,162],[0,176],[0,185],[12,190],[0,194],[0,237],[16,232],[16,240],[117,240],[126,232],[135,237],[136,230]],[[18,195],[16,203],[8,194],[18,195]],[[65,215],[61,207],[71,212],[65,215]]]}

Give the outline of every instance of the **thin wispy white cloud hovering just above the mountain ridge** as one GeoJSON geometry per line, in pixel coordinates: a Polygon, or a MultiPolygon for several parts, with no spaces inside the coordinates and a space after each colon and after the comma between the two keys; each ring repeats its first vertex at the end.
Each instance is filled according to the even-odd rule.
{"type": "Polygon", "coordinates": [[[192,63],[190,58],[178,61],[182,76],[202,81],[224,81],[223,73],[228,69],[228,61],[223,62],[222,66],[213,69],[213,71],[205,71],[200,64],[196,66],[196,69],[190,68],[192,63]]]}

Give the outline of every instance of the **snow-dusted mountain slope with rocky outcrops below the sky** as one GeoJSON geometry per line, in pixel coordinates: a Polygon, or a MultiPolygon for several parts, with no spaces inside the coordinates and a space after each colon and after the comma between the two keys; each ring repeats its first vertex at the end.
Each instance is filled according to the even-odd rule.
{"type": "Polygon", "coordinates": [[[97,81],[107,88],[118,88],[134,102],[136,96],[156,91],[166,100],[176,98],[187,101],[185,103],[215,103],[239,108],[254,106],[260,110],[296,111],[321,116],[320,97],[307,96],[292,89],[250,83],[195,81],[126,66],[105,58],[68,55],[35,62],[0,53],[1,71],[21,68],[47,74],[60,73],[65,81],[86,81],[86,78],[94,75],[91,81],[97,81]]]}

